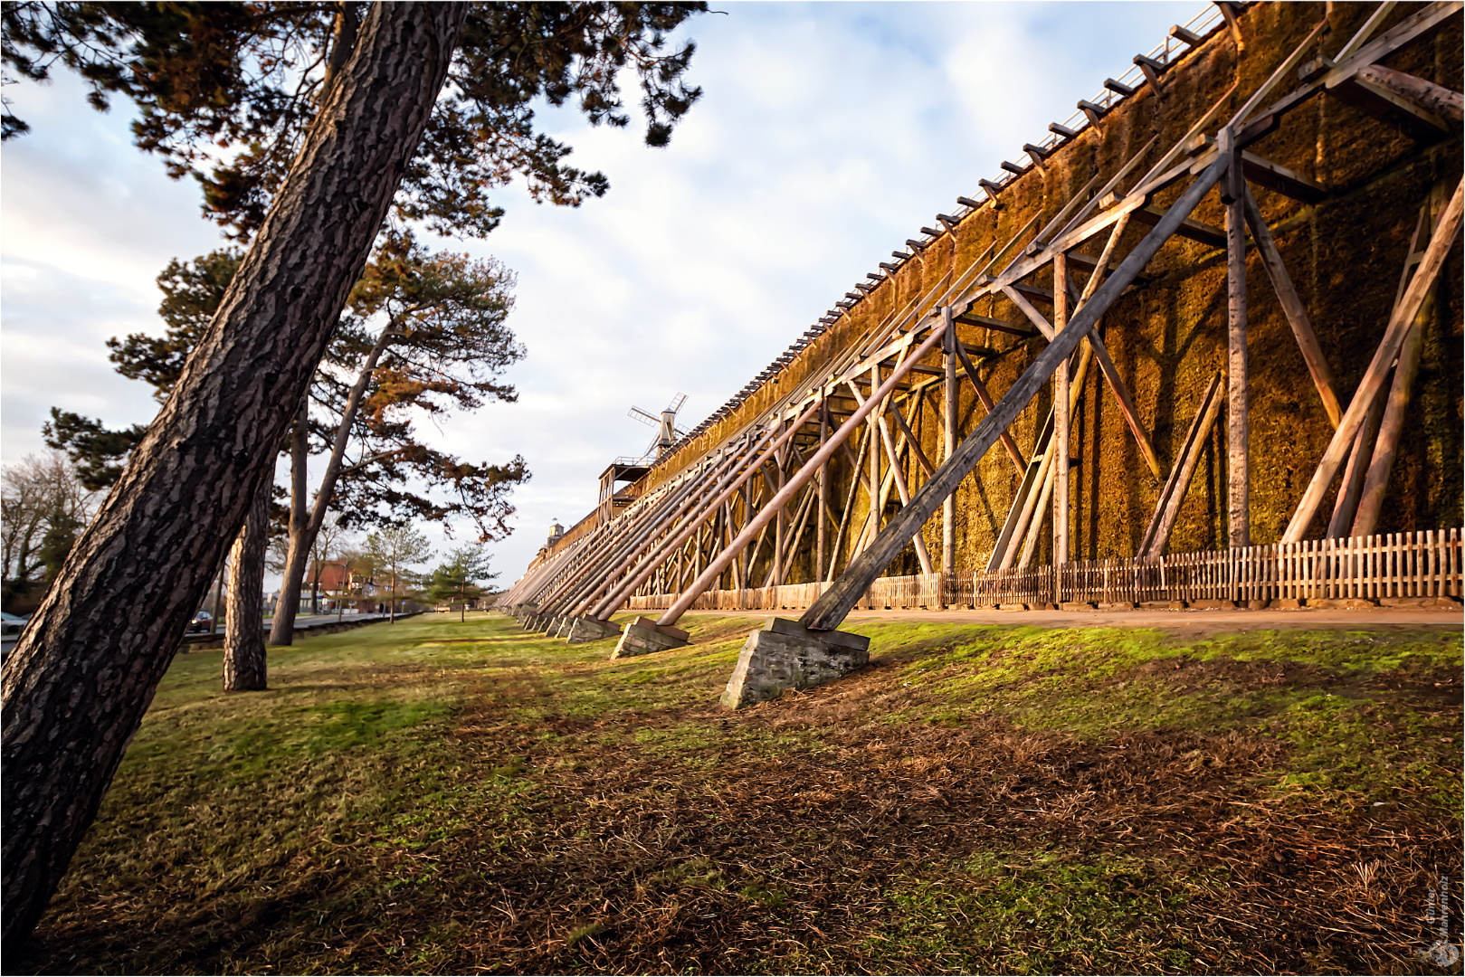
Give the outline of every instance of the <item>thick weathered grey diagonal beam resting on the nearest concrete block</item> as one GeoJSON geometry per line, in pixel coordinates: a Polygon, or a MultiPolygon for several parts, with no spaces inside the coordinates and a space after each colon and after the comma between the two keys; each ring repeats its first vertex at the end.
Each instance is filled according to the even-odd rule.
{"type": "Polygon", "coordinates": [[[1049,343],[1023,375],[1018,376],[1017,382],[1008,388],[1008,393],[998,403],[996,410],[987,415],[967,435],[957,448],[957,453],[948,461],[942,463],[936,475],[916,492],[911,504],[891,520],[891,524],[885,527],[875,543],[845,568],[844,574],[819,598],[815,606],[804,612],[800,621],[806,628],[826,631],[837,628],[844,621],[850,608],[854,606],[854,602],[870,586],[870,582],[889,565],[905,542],[930,519],[942,499],[957,489],[967,473],[982,460],[987,448],[996,444],[998,435],[1027,407],[1039,387],[1047,382],[1047,378],[1058,369],[1062,360],[1068,359],[1078,340],[1109,309],[1113,300],[1119,297],[1119,293],[1130,287],[1134,277],[1150,262],[1160,246],[1171,239],[1181,221],[1190,217],[1201,196],[1220,179],[1225,166],[1223,161],[1217,161],[1195,177],[1191,186],[1166,212],[1165,220],[1144,236],[1135,249],[1121,262],[1119,270],[1074,315],[1069,328],[1064,330],[1062,335],[1056,337],[1053,343],[1049,343]]]}

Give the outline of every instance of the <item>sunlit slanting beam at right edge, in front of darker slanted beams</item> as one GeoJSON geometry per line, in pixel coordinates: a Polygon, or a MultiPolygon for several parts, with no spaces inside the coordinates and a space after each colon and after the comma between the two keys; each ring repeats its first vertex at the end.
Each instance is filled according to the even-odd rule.
{"type": "Polygon", "coordinates": [[[1373,362],[1370,362],[1368,369],[1364,372],[1364,378],[1358,384],[1358,391],[1354,394],[1348,412],[1339,420],[1338,429],[1333,432],[1333,439],[1329,442],[1327,451],[1323,453],[1317,470],[1313,473],[1313,480],[1302,492],[1302,499],[1298,502],[1297,511],[1292,514],[1292,520],[1282,535],[1283,542],[1301,539],[1307,532],[1308,524],[1311,524],[1313,517],[1317,514],[1317,508],[1323,502],[1323,495],[1332,485],[1333,476],[1338,475],[1338,466],[1342,464],[1343,457],[1352,447],[1354,435],[1358,434],[1358,426],[1362,425],[1364,415],[1368,412],[1374,394],[1383,387],[1389,366],[1392,366],[1395,356],[1398,356],[1399,347],[1403,346],[1408,327],[1412,325],[1414,316],[1420,312],[1425,294],[1444,265],[1450,243],[1459,233],[1462,189],[1465,189],[1465,185],[1455,187],[1455,195],[1440,217],[1440,226],[1430,240],[1430,248],[1424,252],[1424,259],[1420,262],[1420,268],[1415,271],[1414,280],[1403,294],[1403,300],[1390,318],[1383,340],[1380,340],[1379,349],[1374,352],[1373,362]]]}

